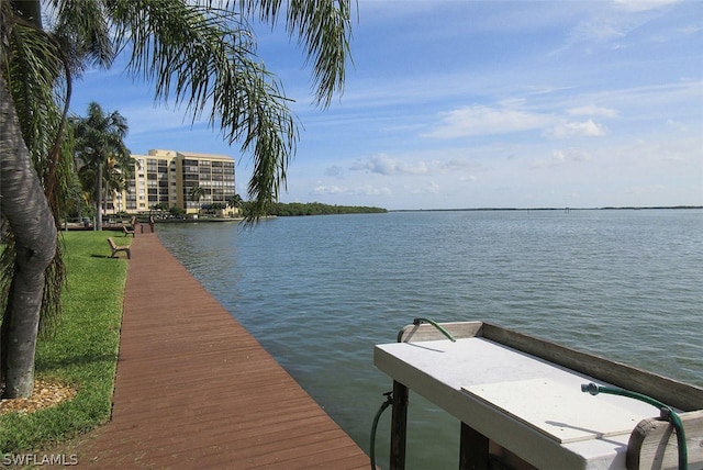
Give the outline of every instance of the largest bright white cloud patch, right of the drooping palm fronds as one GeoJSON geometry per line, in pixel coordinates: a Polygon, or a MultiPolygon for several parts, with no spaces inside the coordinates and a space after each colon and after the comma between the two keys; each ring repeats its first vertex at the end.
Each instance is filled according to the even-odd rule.
{"type": "Polygon", "coordinates": [[[509,108],[464,107],[443,113],[442,122],[423,137],[457,138],[473,135],[507,134],[544,127],[553,121],[545,114],[509,108]]]}

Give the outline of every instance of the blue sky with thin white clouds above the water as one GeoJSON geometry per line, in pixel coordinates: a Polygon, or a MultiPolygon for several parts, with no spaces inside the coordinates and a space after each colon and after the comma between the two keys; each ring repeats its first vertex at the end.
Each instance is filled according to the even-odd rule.
{"type": "MultiPolygon", "coordinates": [[[[256,27],[300,142],[282,202],[389,210],[703,205],[703,2],[359,0],[343,94],[313,103],[282,25],[256,27]]],[[[133,154],[249,155],[118,59],[74,85],[133,154]]]]}

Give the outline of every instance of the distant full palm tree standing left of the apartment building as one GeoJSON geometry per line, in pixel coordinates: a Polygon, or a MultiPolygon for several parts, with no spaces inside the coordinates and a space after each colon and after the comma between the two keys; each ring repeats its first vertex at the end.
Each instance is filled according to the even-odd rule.
{"type": "Polygon", "coordinates": [[[76,158],[82,163],[83,168],[93,171],[96,179],[96,227],[101,231],[102,200],[108,194],[108,191],[103,194],[103,182],[110,182],[109,163],[113,163],[114,167],[118,160],[132,158],[123,142],[127,133],[127,122],[116,111],[104,114],[100,104],[94,101],[88,104],[86,118],[74,118],[70,121],[76,137],[76,158]]]}

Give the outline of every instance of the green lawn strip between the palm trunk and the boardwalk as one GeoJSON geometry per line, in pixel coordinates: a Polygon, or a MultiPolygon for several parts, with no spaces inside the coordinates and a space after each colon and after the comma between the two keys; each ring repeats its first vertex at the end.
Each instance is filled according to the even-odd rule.
{"type": "Polygon", "coordinates": [[[36,349],[36,378],[57,379],[78,393],[49,409],[0,416],[0,456],[41,450],[110,419],[127,264],[109,258],[108,236],[64,233],[63,315],[36,349]]]}

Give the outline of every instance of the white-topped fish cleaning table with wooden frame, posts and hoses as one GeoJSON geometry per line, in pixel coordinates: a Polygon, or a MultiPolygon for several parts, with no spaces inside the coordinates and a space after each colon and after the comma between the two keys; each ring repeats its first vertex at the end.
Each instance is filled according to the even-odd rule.
{"type": "Polygon", "coordinates": [[[627,396],[583,393],[583,383],[644,381],[650,393],[685,390],[672,406],[703,407],[703,390],[693,385],[481,322],[444,325],[455,343],[432,325],[409,325],[398,343],[375,348],[376,366],[394,381],[391,469],[404,468],[408,389],[461,422],[461,468],[488,468],[490,459],[516,460],[518,468],[633,468],[633,430],[659,411],[627,396]]]}

